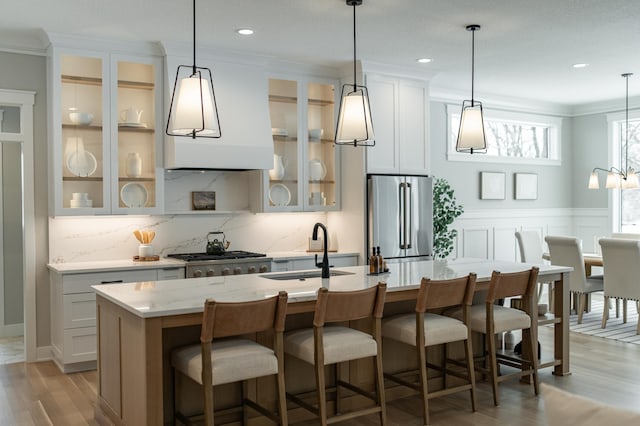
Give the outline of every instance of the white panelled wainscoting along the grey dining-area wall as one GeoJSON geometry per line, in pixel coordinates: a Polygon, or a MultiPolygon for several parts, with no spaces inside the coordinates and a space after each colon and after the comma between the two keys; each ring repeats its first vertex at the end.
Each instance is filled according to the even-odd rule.
{"type": "MultiPolygon", "coordinates": [[[[452,257],[520,261],[516,231],[575,236],[584,252],[599,252],[597,238],[611,235],[607,209],[472,210],[455,224],[458,236],[452,257]]],[[[545,246],[546,251],[546,246],[545,246]]]]}

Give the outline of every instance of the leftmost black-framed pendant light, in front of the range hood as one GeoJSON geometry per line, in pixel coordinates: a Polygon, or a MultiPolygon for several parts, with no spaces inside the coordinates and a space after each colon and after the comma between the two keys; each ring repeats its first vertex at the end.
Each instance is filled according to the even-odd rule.
{"type": "Polygon", "coordinates": [[[196,0],[193,0],[193,65],[178,66],[166,134],[193,139],[222,136],[211,70],[196,66],[196,0]]]}

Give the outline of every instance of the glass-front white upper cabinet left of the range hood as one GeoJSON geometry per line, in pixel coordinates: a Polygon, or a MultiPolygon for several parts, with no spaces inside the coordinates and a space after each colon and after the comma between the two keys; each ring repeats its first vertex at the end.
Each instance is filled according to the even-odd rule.
{"type": "Polygon", "coordinates": [[[162,57],[73,44],[47,58],[50,214],[159,213],[162,57]]]}

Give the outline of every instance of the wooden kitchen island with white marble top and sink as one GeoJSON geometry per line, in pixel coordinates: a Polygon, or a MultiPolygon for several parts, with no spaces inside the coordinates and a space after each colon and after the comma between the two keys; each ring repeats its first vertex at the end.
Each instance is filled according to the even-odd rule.
{"type": "MultiPolygon", "coordinates": [[[[387,303],[415,300],[422,277],[449,279],[475,272],[478,290],[488,288],[491,272],[521,271],[532,264],[459,259],[389,264],[389,272],[369,275],[367,266],[343,267],[329,279],[277,280],[282,275],[239,275],[189,280],[148,281],[94,286],[98,314],[98,403],[100,423],[161,425],[172,423],[174,347],[198,341],[206,298],[238,302],[289,294],[287,315],[313,312],[318,288],[358,290],[387,283],[387,303]]],[[[569,374],[569,279],[571,268],[536,265],[539,281],[554,281],[554,312],[538,324],[554,324],[553,356],[541,368],[569,374]]],[[[283,273],[290,274],[290,273],[283,273]]],[[[535,328],[534,328],[535,330],[535,328]]]]}

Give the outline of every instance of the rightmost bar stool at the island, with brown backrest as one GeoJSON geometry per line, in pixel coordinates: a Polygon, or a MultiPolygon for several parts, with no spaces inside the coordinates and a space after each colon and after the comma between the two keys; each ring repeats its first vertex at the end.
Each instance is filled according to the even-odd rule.
{"type": "MultiPolygon", "coordinates": [[[[469,325],[471,330],[485,335],[486,353],[489,368],[477,367],[477,370],[490,375],[493,387],[493,403],[498,405],[498,383],[513,377],[531,376],[533,390],[538,395],[538,357],[535,332],[532,327],[537,325],[537,308],[534,309],[536,299],[535,290],[538,280],[538,267],[513,273],[493,271],[491,283],[485,300],[485,306],[472,305],[469,310],[469,325]],[[508,308],[495,302],[507,297],[521,297],[522,309],[508,308]],[[505,353],[497,353],[496,334],[505,331],[522,330],[522,356],[516,357],[505,353]],[[498,375],[499,364],[518,368],[509,374],[498,375]]],[[[454,318],[460,319],[462,310],[447,312],[454,318]]]]}

